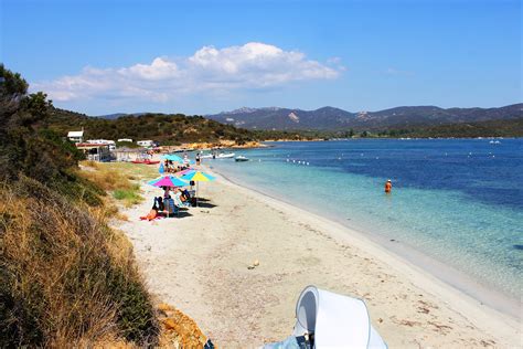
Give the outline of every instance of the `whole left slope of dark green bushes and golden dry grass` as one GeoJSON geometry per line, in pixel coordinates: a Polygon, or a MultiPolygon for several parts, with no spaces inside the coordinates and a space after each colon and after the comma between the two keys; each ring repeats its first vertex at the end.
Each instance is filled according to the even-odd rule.
{"type": "Polygon", "coordinates": [[[82,156],[45,125],[52,104],[0,65],[0,347],[154,345],[131,246],[107,225],[82,156]]]}

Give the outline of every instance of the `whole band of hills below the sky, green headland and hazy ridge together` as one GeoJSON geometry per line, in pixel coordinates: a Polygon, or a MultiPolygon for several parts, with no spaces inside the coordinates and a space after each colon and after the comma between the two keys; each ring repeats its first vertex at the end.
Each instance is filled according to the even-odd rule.
{"type": "Polygon", "coordinates": [[[153,139],[163,145],[220,140],[244,144],[265,139],[346,138],[351,135],[354,137],[522,137],[522,106],[523,104],[517,104],[488,109],[397,107],[359,114],[332,107],[312,112],[278,107],[242,108],[221,113],[220,117],[213,117],[214,120],[202,116],[152,113],[114,114],[115,118],[100,118],[53,108],[46,125],[42,126],[54,129],[61,135],[83,127],[87,139],[153,139]],[[116,117],[116,115],[119,116],[116,117]],[[258,125],[264,127],[258,127],[258,125]],[[273,127],[274,125],[284,126],[277,129],[273,127]],[[351,128],[354,133],[350,131],[351,128]]]}

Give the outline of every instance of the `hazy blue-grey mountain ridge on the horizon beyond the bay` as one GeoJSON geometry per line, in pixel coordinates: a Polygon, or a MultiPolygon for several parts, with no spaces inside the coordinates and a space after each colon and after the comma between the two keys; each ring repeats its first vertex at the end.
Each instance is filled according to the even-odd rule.
{"type": "Polygon", "coordinates": [[[316,110],[279,107],[239,108],[207,115],[210,119],[247,129],[337,130],[423,127],[523,117],[523,104],[499,108],[440,108],[403,106],[378,112],[351,113],[334,107],[316,110]]]}

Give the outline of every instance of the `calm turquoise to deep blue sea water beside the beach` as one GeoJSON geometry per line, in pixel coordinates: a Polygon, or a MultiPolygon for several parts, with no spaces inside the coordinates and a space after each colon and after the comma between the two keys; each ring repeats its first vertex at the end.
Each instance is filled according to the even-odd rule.
{"type": "Polygon", "coordinates": [[[523,296],[523,139],[275,142],[207,160],[233,181],[523,296]],[[394,188],[385,195],[383,187],[394,188]]]}

